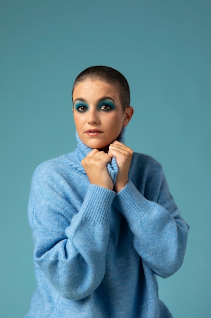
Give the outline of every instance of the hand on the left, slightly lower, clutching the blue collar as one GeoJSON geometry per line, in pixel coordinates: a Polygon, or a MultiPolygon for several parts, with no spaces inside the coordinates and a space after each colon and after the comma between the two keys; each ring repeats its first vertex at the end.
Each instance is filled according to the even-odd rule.
{"type": "Polygon", "coordinates": [[[81,164],[92,184],[113,190],[113,182],[107,169],[107,163],[110,162],[111,157],[108,153],[93,149],[83,158],[81,164]]]}

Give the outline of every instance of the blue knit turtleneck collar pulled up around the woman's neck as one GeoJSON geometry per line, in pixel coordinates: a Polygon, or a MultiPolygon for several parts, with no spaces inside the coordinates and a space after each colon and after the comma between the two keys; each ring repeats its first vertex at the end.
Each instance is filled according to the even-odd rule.
{"type": "MultiPolygon", "coordinates": [[[[123,127],[120,135],[116,138],[116,140],[118,140],[121,143],[124,143],[124,132],[125,132],[125,128],[123,127]]],[[[78,160],[81,162],[81,160],[88,155],[88,153],[92,150],[92,148],[88,147],[80,140],[77,132],[76,132],[76,139],[77,139],[76,155],[78,157],[78,160]]],[[[112,158],[110,164],[107,164],[107,169],[114,184],[116,181],[117,173],[118,173],[118,166],[117,166],[115,157],[112,158]]]]}

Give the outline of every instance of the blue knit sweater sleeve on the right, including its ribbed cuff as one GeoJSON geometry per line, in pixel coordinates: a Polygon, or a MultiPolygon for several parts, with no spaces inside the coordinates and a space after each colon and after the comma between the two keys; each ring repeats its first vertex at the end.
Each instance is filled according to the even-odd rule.
{"type": "Polygon", "coordinates": [[[147,200],[130,180],[116,195],[114,204],[128,221],[141,258],[165,278],[183,263],[189,226],[180,215],[163,173],[156,197],[156,202],[147,200]]]}

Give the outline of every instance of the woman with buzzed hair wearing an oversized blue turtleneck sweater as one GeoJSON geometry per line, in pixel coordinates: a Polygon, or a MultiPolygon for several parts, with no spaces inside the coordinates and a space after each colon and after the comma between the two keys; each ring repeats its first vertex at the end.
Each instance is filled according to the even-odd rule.
{"type": "Polygon", "coordinates": [[[29,199],[37,289],[25,317],[172,317],[156,275],[182,265],[188,225],[161,166],[124,145],[124,76],[104,66],[73,85],[77,149],[41,164],[29,199]]]}

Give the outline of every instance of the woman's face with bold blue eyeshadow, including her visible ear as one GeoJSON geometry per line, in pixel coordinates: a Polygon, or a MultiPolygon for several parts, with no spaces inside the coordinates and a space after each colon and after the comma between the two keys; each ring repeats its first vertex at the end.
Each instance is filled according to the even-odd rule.
{"type": "Polygon", "coordinates": [[[72,97],[76,131],[80,140],[90,148],[106,148],[130,120],[127,109],[122,113],[118,89],[107,82],[80,82],[72,97]]]}

